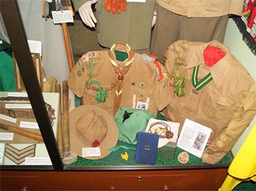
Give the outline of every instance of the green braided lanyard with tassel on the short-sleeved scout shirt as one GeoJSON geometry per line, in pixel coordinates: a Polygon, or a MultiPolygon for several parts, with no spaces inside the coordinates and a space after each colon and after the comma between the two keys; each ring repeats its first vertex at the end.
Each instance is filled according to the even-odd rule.
{"type": "Polygon", "coordinates": [[[99,88],[98,88],[97,94],[95,95],[95,99],[97,100],[98,103],[100,103],[100,102],[104,103],[108,97],[108,94],[104,90],[104,88],[102,88],[99,81],[93,80],[93,59],[92,58],[89,59],[89,63],[90,63],[91,75],[90,75],[90,79],[89,79],[89,82],[87,83],[87,85],[90,86],[93,83],[96,83],[98,85],[99,88]]]}

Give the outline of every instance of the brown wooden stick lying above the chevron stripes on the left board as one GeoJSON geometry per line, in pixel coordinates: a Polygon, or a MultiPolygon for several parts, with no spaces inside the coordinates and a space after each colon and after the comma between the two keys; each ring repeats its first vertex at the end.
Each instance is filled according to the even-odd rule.
{"type": "Polygon", "coordinates": [[[0,128],[3,130],[8,130],[10,132],[20,134],[25,137],[29,137],[31,139],[35,139],[37,141],[44,142],[44,139],[41,136],[41,134],[37,134],[35,132],[30,132],[28,130],[22,130],[21,128],[17,128],[17,127],[11,126],[11,125],[5,125],[3,123],[0,123],[0,128]]]}

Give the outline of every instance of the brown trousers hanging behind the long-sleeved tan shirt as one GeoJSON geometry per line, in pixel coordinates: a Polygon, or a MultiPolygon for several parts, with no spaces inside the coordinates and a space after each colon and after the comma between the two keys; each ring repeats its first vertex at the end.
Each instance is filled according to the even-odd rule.
{"type": "Polygon", "coordinates": [[[156,7],[156,25],[152,31],[150,53],[161,61],[170,44],[177,40],[208,42],[216,39],[223,43],[228,15],[221,17],[188,18],[174,14],[161,6],[156,7]]]}

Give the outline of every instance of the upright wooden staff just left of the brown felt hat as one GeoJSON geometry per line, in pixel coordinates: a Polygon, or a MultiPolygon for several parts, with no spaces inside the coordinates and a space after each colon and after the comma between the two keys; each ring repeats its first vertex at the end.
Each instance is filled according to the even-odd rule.
{"type": "Polygon", "coordinates": [[[62,111],[63,111],[63,152],[64,157],[70,155],[70,137],[68,120],[68,81],[62,81],[62,111]]]}

